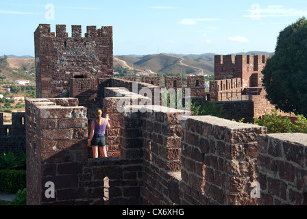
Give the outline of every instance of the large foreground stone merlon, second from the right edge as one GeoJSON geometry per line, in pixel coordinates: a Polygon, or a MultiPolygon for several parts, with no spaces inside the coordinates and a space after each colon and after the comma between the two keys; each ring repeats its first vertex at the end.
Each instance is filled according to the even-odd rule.
{"type": "Polygon", "coordinates": [[[183,204],[256,205],[250,185],[257,181],[258,135],[267,129],[193,116],[182,130],[183,204]]]}

